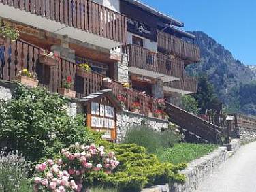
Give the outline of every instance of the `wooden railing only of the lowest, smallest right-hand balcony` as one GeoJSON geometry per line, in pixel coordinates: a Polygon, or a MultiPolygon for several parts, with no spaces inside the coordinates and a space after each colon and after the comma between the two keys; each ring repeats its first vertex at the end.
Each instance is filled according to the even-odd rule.
{"type": "Polygon", "coordinates": [[[189,76],[185,76],[182,80],[166,82],[165,86],[197,93],[197,80],[189,76]]]}

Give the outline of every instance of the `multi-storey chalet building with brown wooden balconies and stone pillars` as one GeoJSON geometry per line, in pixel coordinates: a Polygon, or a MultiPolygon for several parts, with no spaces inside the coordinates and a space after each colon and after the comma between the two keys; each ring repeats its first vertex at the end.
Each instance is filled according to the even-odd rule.
{"type": "Polygon", "coordinates": [[[179,106],[180,95],[197,91],[184,70],[199,61],[195,36],[137,0],[0,0],[0,22],[20,31],[16,41],[0,44],[2,80],[28,69],[39,86],[61,93],[71,77],[76,98],[110,88],[125,110],[139,103],[146,116],[157,110],[154,98],[179,106]],[[81,71],[83,63],[91,71],[81,71]]]}

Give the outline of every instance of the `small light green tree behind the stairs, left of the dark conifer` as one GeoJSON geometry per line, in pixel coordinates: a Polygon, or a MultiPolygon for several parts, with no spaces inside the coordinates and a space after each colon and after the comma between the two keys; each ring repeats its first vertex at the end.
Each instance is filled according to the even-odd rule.
{"type": "Polygon", "coordinates": [[[181,97],[182,109],[193,114],[198,114],[198,102],[191,95],[182,95],[181,97]]]}

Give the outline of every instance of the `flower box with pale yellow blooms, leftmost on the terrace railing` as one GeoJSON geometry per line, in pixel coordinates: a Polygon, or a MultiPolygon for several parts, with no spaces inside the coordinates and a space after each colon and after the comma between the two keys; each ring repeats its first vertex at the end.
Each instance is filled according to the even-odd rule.
{"type": "Polygon", "coordinates": [[[35,73],[29,72],[28,69],[22,69],[21,71],[19,71],[16,76],[16,80],[31,88],[38,86],[37,75],[35,73]]]}

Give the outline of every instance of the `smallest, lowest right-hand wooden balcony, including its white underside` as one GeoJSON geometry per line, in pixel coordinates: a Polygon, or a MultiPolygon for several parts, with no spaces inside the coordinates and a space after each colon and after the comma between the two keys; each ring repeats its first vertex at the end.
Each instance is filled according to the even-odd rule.
{"type": "Polygon", "coordinates": [[[163,86],[165,91],[177,92],[182,95],[197,93],[197,80],[189,76],[185,76],[182,80],[167,82],[163,86]]]}

